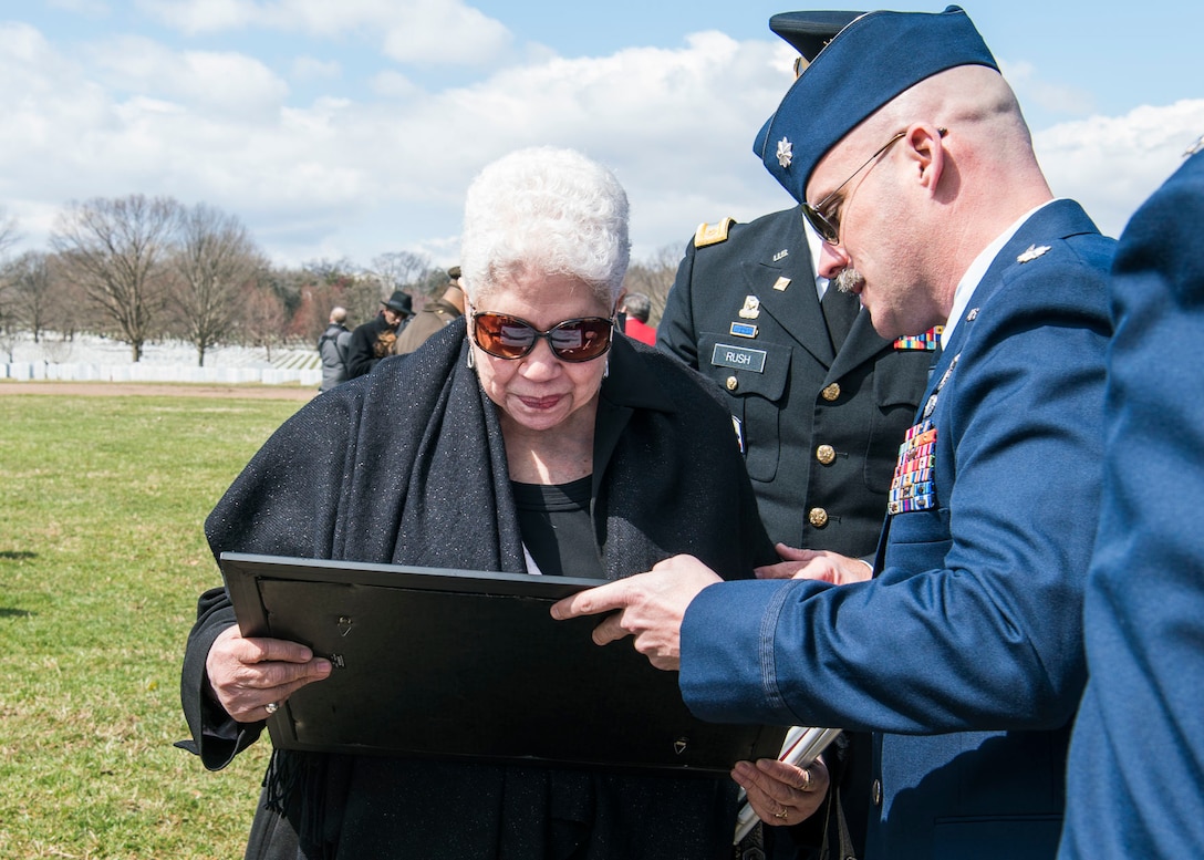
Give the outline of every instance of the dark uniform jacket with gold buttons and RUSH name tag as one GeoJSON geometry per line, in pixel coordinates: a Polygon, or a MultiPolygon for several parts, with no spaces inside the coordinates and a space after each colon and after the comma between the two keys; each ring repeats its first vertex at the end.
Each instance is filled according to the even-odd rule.
{"type": "Polygon", "coordinates": [[[932,353],[879,337],[846,294],[834,298],[856,319],[836,352],[814,277],[798,207],[732,224],[703,247],[691,241],[656,344],[725,391],[769,536],[866,556],[932,353]],[[742,317],[749,296],[756,306],[742,317]]]}

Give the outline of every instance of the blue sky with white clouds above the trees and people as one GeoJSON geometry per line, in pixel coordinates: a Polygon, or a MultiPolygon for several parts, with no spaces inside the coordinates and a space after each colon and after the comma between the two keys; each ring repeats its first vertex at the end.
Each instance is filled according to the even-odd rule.
{"type": "MultiPolygon", "coordinates": [[[[1204,134],[1204,4],[963,6],[1055,193],[1117,234],[1204,134]]],[[[751,145],[795,55],[767,22],[798,7],[6,0],[0,206],[19,249],[45,248],[70,201],[142,193],[238,216],[283,265],[393,251],[450,265],[476,172],[551,143],[615,170],[645,259],[698,222],[791,205],[751,145]]]]}

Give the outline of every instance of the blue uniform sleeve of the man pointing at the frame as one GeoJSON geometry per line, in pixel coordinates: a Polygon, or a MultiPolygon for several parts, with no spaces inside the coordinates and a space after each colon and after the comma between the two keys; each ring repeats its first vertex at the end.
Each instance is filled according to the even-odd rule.
{"type": "Polygon", "coordinates": [[[895,518],[875,579],[698,595],[680,676],[696,714],[896,734],[1069,719],[1085,677],[1105,272],[1060,247],[984,305],[940,395],[937,507],[895,518]]]}

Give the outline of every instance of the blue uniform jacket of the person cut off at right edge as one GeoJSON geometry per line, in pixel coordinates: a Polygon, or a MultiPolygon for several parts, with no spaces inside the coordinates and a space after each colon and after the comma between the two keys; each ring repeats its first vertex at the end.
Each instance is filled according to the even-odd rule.
{"type": "Polygon", "coordinates": [[[1198,153],[1138,211],[1116,255],[1068,860],[1204,856],[1202,234],[1198,153]]]}

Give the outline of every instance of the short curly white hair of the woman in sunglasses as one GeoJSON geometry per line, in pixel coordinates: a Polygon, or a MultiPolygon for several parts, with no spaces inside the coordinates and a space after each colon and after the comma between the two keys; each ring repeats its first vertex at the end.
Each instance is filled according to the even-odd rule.
{"type": "Polygon", "coordinates": [[[519,149],[468,187],[461,284],[470,301],[537,272],[579,278],[614,305],[631,258],[627,194],[607,167],[572,149],[519,149]]]}

